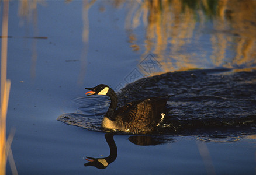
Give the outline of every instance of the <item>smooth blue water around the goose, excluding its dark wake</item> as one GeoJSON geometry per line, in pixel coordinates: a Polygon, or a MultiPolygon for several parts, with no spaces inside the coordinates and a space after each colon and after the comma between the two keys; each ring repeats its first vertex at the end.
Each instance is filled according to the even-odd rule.
{"type": "MultiPolygon", "coordinates": [[[[11,1],[9,6],[8,35],[12,37],[8,39],[8,79],[12,84],[7,116],[7,134],[10,134],[11,128],[15,129],[12,153],[19,174],[255,173],[253,132],[231,137],[225,135],[224,138],[172,134],[167,142],[154,146],[136,145],[129,140],[133,135],[117,134],[114,136],[116,160],[103,170],[84,167],[87,163],[85,156],[109,155],[105,133],[67,125],[57,121],[57,117],[80,113],[86,107],[80,103],[84,100],[85,86],[105,83],[119,89],[146,75],[182,71],[182,63],[186,65],[184,69],[224,67],[234,73],[237,67],[242,67],[251,71],[255,61],[251,58],[252,61],[245,60],[245,64],[227,64],[231,56],[226,55],[222,64],[213,63],[209,54],[213,50],[209,41],[213,31],[206,30],[206,27],[199,40],[190,38],[195,43],[180,47],[167,60],[160,59],[161,72],[154,69],[155,72],[148,75],[143,71],[145,67],[140,66],[149,54],[144,47],[146,29],[141,22],[133,30],[136,44],[140,46],[137,52],[130,47],[130,30],[124,29],[129,3],[115,8],[113,1],[96,1],[88,12],[88,43],[82,41],[82,1],[39,1],[37,13],[33,13],[37,15],[36,24],[17,15],[19,5],[19,1],[11,1]],[[36,36],[47,38],[26,38],[36,36]],[[194,51],[199,54],[193,54],[194,51]],[[180,55],[184,52],[185,55],[180,55]],[[198,57],[198,60],[186,60],[188,55],[198,57]],[[178,56],[181,59],[175,60],[178,56]],[[85,66],[81,67],[84,60],[85,66]],[[169,65],[170,61],[174,61],[175,65],[169,65]],[[192,62],[192,66],[187,65],[188,62],[192,62]],[[136,74],[139,72],[138,76],[127,79],[134,71],[136,74]]],[[[170,50],[165,50],[164,55],[168,55],[170,50]]],[[[162,58],[155,52],[155,47],[150,52],[154,57],[162,58]]],[[[108,99],[105,100],[103,104],[107,105],[108,99]]],[[[89,111],[85,115],[90,115],[89,111]]],[[[99,122],[99,118],[95,117],[95,121],[99,122]]],[[[9,163],[6,170],[6,174],[11,174],[9,163]]]]}

